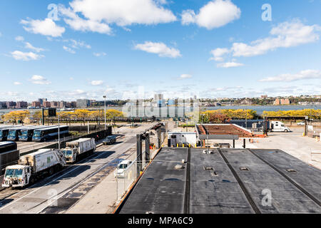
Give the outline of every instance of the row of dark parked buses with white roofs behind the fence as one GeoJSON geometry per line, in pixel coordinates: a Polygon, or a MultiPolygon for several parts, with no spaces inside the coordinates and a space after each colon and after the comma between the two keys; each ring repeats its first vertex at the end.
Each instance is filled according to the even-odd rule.
{"type": "Polygon", "coordinates": [[[68,135],[68,126],[0,126],[0,141],[46,142],[68,135]]]}

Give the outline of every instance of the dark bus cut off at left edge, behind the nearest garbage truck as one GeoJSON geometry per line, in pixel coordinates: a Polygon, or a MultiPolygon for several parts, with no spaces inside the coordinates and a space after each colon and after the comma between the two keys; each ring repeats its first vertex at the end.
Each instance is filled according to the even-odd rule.
{"type": "Polygon", "coordinates": [[[4,175],[7,166],[17,164],[18,160],[16,142],[0,142],[0,176],[4,175]]]}

